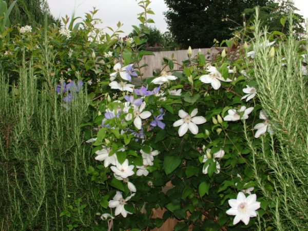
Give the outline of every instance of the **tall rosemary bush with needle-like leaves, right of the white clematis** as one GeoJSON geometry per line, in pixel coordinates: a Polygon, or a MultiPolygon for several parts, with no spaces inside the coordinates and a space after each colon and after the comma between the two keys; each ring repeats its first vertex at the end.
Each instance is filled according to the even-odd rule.
{"type": "MultiPolygon", "coordinates": [[[[259,230],[268,226],[277,230],[308,228],[308,36],[305,35],[306,41],[296,40],[292,14],[288,20],[286,41],[279,43],[274,51],[260,46],[269,35],[266,29],[261,31],[259,22],[255,21],[252,79],[274,132],[270,137],[261,136],[260,145],[254,144],[247,130],[245,133],[252,151],[257,186],[273,214],[260,222],[259,230]]],[[[268,126],[267,121],[264,126],[268,126]]]]}

